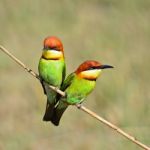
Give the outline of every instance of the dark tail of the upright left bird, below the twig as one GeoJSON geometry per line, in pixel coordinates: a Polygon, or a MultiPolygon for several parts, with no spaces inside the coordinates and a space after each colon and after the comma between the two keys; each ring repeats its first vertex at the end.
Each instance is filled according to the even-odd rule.
{"type": "Polygon", "coordinates": [[[46,110],[45,110],[45,114],[43,117],[43,121],[51,121],[51,118],[53,116],[53,112],[54,112],[54,104],[50,104],[47,100],[47,104],[46,104],[46,110]]]}

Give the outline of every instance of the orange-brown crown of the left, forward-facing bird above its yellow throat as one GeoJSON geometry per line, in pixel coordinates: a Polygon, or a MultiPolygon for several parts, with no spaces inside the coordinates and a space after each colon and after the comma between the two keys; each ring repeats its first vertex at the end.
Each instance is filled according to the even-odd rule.
{"type": "Polygon", "coordinates": [[[49,36],[44,40],[44,49],[53,49],[63,52],[63,44],[59,38],[55,36],[49,36]]]}

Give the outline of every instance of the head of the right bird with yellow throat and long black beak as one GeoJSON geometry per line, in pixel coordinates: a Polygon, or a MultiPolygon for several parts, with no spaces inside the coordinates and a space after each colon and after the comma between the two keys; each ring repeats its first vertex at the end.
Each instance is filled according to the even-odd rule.
{"type": "Polygon", "coordinates": [[[87,60],[78,67],[75,73],[80,78],[96,80],[101,74],[102,69],[106,68],[113,67],[109,65],[102,65],[100,62],[95,60],[87,60]]]}

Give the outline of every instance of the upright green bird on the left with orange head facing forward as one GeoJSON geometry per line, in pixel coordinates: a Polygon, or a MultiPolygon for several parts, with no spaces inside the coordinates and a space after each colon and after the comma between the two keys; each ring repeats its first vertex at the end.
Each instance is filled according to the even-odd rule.
{"type": "Polygon", "coordinates": [[[63,44],[57,37],[45,38],[38,70],[44,93],[47,95],[47,106],[43,120],[50,121],[57,93],[48,85],[43,84],[43,81],[60,88],[66,72],[63,44]]]}

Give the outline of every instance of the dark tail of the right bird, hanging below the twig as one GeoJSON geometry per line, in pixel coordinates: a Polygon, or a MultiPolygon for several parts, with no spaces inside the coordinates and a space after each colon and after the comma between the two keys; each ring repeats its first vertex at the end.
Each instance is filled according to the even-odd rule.
{"type": "Polygon", "coordinates": [[[59,101],[58,105],[54,109],[53,116],[51,118],[51,122],[55,125],[58,126],[60,119],[64,113],[64,111],[67,109],[68,104],[64,103],[62,100],[59,101]]]}

